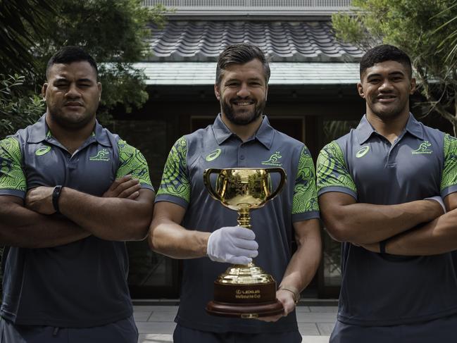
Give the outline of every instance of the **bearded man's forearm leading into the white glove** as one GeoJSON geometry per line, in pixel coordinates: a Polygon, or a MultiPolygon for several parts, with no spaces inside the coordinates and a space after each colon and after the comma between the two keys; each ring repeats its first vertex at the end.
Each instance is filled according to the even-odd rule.
{"type": "Polygon", "coordinates": [[[210,232],[187,230],[166,218],[156,217],[149,231],[149,247],[172,258],[206,256],[210,232]]]}

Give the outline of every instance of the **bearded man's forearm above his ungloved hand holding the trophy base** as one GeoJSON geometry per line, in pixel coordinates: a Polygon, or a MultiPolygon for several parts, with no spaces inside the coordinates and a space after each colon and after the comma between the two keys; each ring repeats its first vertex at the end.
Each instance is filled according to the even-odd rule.
{"type": "Polygon", "coordinates": [[[280,287],[292,287],[301,292],[313,280],[322,254],[319,227],[317,220],[315,221],[315,230],[297,237],[297,249],[282,277],[280,287]]]}

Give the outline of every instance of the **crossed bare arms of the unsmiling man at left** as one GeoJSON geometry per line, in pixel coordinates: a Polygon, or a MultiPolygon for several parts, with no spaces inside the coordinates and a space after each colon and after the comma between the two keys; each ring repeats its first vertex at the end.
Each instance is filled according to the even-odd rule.
{"type": "Polygon", "coordinates": [[[94,197],[63,188],[53,214],[53,187],[31,189],[25,201],[0,196],[0,242],[11,247],[44,248],[75,242],[89,235],[108,240],[146,236],[154,192],[139,189],[130,175],[121,177],[104,194],[94,197]]]}

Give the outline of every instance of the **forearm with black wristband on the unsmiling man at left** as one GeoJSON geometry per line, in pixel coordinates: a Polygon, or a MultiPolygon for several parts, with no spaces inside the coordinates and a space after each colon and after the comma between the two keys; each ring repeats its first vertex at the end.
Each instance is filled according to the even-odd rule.
{"type": "MultiPolygon", "coordinates": [[[[143,192],[151,192],[147,189],[143,192]]],[[[152,194],[153,192],[151,192],[152,194]]],[[[63,187],[58,201],[63,216],[101,239],[125,241],[144,239],[152,216],[150,201],[94,197],[63,187]]]]}

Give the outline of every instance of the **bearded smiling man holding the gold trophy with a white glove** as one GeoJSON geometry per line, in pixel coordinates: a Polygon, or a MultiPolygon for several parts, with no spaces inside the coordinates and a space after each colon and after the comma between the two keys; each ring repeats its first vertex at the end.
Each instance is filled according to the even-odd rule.
{"type": "Polygon", "coordinates": [[[319,208],[313,160],[306,146],[273,129],[263,116],[270,67],[261,49],[227,47],[219,56],[214,92],[221,112],[213,125],[181,137],[165,164],[149,244],[184,258],[180,308],[173,335],[183,342],[301,342],[294,308],[320,261],[319,208]],[[206,168],[280,166],[287,185],[251,212],[253,230],[233,227],[237,213],[213,200],[206,168]],[[292,238],[298,249],[292,255],[292,238]],[[222,318],[205,312],[215,278],[252,258],[280,283],[284,313],[260,320],[222,318]],[[268,323],[274,322],[274,323],[268,323]]]}

